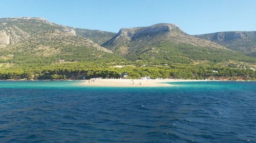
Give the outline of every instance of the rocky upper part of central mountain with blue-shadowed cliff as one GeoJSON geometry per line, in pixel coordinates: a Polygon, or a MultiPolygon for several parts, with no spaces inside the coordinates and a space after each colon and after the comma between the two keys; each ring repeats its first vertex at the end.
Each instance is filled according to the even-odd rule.
{"type": "Polygon", "coordinates": [[[146,27],[122,28],[112,39],[102,44],[120,54],[129,54],[134,49],[152,47],[156,43],[169,41],[174,44],[190,44],[205,48],[222,48],[216,43],[202,40],[184,33],[178,25],[160,23],[146,27]],[[125,49],[126,52],[123,51],[125,49]]]}

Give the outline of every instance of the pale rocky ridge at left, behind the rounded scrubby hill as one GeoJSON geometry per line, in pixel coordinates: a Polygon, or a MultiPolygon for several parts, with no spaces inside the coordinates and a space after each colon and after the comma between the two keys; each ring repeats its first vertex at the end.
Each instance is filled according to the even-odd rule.
{"type": "Polygon", "coordinates": [[[90,39],[98,45],[110,40],[115,35],[112,32],[63,26],[52,23],[44,18],[0,18],[0,48],[9,43],[17,43],[25,40],[40,31],[69,32],[70,34],[90,39]]]}

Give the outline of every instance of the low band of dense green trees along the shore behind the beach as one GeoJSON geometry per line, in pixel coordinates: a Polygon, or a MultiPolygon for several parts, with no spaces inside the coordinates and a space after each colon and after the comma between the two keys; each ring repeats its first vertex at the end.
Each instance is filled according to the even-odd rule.
{"type": "MultiPolygon", "coordinates": [[[[232,66],[232,65],[230,65],[232,66]]],[[[214,76],[233,77],[246,76],[255,79],[256,72],[250,69],[237,69],[222,66],[205,66],[190,64],[173,64],[169,66],[136,67],[125,66],[114,68],[108,64],[92,62],[53,64],[48,66],[24,67],[17,66],[0,70],[1,79],[87,79],[95,77],[120,78],[122,73],[129,73],[129,78],[150,76],[151,78],[176,79],[213,79],[214,76]],[[215,73],[213,70],[218,71],[215,73]]]]}

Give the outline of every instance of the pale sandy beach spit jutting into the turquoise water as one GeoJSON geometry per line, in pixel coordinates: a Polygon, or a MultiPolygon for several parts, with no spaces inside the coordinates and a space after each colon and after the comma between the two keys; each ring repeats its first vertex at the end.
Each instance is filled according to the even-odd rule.
{"type": "Polygon", "coordinates": [[[86,80],[83,85],[94,87],[172,87],[174,85],[165,82],[179,81],[207,81],[186,79],[95,79],[86,80]]]}

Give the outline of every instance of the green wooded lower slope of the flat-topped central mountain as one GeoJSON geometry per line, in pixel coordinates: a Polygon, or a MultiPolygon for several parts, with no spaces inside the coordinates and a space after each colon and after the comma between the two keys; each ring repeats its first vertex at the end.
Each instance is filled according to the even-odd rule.
{"type": "Polygon", "coordinates": [[[155,61],[158,63],[193,63],[193,60],[207,60],[216,63],[228,62],[229,60],[246,63],[256,63],[255,58],[225,49],[202,48],[191,44],[174,44],[169,41],[155,44],[146,49],[136,49],[128,59],[155,61]]]}

